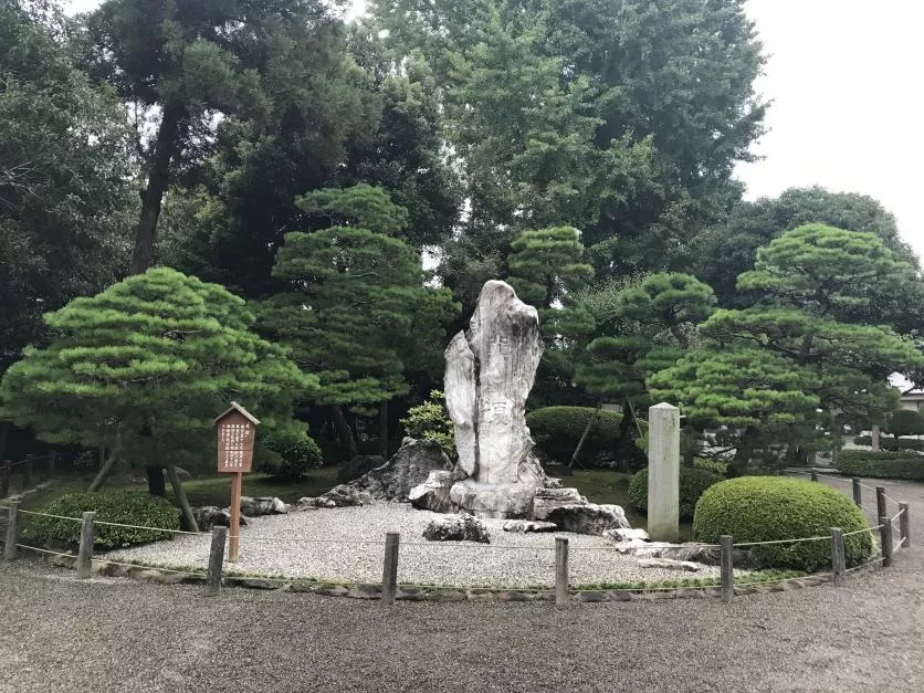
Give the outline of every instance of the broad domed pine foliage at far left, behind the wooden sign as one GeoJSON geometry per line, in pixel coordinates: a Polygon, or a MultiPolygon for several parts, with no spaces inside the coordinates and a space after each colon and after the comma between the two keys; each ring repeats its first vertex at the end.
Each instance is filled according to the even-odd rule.
{"type": "Polygon", "coordinates": [[[292,401],[316,378],[251,332],[243,300],[221,286],[155,269],[45,321],[51,344],[7,371],[0,401],[4,417],[48,442],[104,445],[138,465],[211,466],[212,419],[229,400],[262,420],[258,441],[304,437],[292,401]]]}

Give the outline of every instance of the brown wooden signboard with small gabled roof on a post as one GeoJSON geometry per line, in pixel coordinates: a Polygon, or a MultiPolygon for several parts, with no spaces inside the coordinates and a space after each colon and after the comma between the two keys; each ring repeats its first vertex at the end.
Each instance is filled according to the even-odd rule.
{"type": "Polygon", "coordinates": [[[231,474],[231,543],[228,560],[238,560],[241,542],[241,482],[253,464],[253,441],[259,419],[231,402],[231,408],[214,420],[218,437],[218,471],[231,474]]]}

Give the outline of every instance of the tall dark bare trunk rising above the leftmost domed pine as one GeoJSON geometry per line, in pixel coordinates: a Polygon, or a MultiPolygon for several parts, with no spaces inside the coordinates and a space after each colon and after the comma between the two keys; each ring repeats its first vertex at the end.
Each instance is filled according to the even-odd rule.
{"type": "Polygon", "coordinates": [[[135,233],[135,249],[132,251],[132,274],[143,274],[154,264],[157,220],[160,217],[164,193],[170,182],[170,159],[174,157],[179,138],[180,114],[179,107],[168,106],[160,119],[150,158],[148,185],[141,195],[141,213],[135,233]]]}

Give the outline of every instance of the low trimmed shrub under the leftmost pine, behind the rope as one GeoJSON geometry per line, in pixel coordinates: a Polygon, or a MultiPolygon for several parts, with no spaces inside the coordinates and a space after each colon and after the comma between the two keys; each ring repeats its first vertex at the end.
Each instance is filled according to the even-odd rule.
{"type": "MultiPolygon", "coordinates": [[[[42,508],[49,515],[80,519],[86,511],[96,511],[97,522],[116,522],[124,525],[154,527],[136,529],[96,525],[93,538],[95,548],[123,548],[133,544],[146,544],[170,539],[172,534],[161,529],[179,529],[179,510],[166,498],[148,495],[143,491],[103,491],[99,493],[67,493],[42,508]]],[[[77,546],[81,540],[81,523],[34,515],[32,525],[35,538],[54,546],[77,546]]]]}

